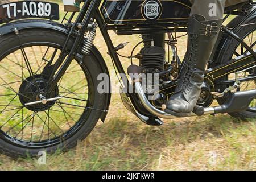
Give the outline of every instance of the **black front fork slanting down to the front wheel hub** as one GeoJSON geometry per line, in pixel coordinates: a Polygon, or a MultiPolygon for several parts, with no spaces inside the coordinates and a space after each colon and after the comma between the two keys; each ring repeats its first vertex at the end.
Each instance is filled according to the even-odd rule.
{"type": "Polygon", "coordinates": [[[79,15],[77,16],[77,19],[75,20],[75,22],[73,23],[73,25],[71,27],[71,30],[69,31],[67,40],[65,41],[65,44],[60,53],[60,56],[57,59],[56,63],[53,65],[53,69],[52,69],[51,75],[49,76],[49,81],[48,81],[48,85],[46,88],[48,93],[52,92],[52,90],[55,88],[57,83],[60,81],[61,77],[63,77],[63,75],[67,71],[69,65],[72,63],[72,60],[76,56],[77,48],[79,47],[79,43],[84,38],[85,31],[90,22],[90,18],[92,18],[92,11],[99,5],[99,3],[100,2],[97,0],[91,0],[91,1],[84,2],[82,9],[81,9],[79,15]],[[79,27],[77,27],[78,23],[79,23],[79,27]],[[76,31],[75,42],[73,42],[72,49],[67,54],[67,46],[68,46],[69,40],[71,39],[71,36],[75,32],[76,28],[78,28],[79,31],[76,31]]]}

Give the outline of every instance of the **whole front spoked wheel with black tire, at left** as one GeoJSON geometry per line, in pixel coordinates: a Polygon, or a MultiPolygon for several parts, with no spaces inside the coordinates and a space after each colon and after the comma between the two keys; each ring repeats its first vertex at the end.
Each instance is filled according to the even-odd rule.
{"type": "Polygon", "coordinates": [[[4,154],[16,157],[71,148],[100,118],[104,98],[96,90],[97,61],[86,65],[73,60],[55,88],[46,90],[51,84],[47,64],[58,59],[64,41],[60,33],[41,30],[20,32],[20,40],[15,34],[3,38],[0,151],[4,154]]]}

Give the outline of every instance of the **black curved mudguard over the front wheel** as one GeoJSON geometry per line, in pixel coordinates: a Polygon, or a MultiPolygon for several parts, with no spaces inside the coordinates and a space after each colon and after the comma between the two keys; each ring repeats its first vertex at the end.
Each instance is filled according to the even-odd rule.
{"type": "MultiPolygon", "coordinates": [[[[33,29],[33,28],[44,28],[47,30],[54,30],[54,31],[60,31],[64,34],[69,33],[70,27],[66,26],[65,24],[52,22],[49,20],[42,20],[42,19],[29,19],[29,20],[18,20],[15,22],[3,24],[0,26],[0,41],[1,37],[5,36],[7,34],[12,34],[15,32],[15,30],[22,31],[27,29],[33,29]]],[[[101,53],[98,51],[98,49],[93,46],[91,53],[97,58],[98,65],[101,69],[102,73],[105,73],[109,76],[108,67],[105,63],[105,60],[103,59],[101,53]]],[[[110,79],[110,76],[109,76],[110,79]]],[[[109,88],[111,88],[110,80],[109,80],[109,88]]],[[[111,93],[106,93],[105,101],[102,101],[104,103],[104,109],[109,110],[111,100],[111,93]]],[[[101,121],[104,122],[106,118],[107,113],[102,112],[101,114],[101,121]]]]}

